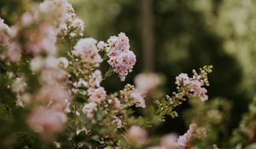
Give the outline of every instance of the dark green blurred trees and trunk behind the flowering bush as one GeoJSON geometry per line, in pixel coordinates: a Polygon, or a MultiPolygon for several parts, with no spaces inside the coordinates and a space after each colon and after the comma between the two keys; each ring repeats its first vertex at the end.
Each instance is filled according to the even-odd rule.
{"type": "MultiPolygon", "coordinates": [[[[130,38],[131,50],[137,55],[137,65],[125,83],[133,83],[138,73],[155,72],[165,82],[160,87],[160,94],[172,95],[176,89],[175,77],[179,73],[191,74],[193,69],[212,65],[213,72],[209,76],[211,86],[207,88],[209,104],[221,112],[230,113],[227,116],[222,113],[223,120],[219,126],[223,126],[223,130],[218,131],[212,141],[221,145],[228,140],[232,129],[238,127],[242,114],[247,112],[256,91],[256,1],[69,2],[73,3],[79,18],[84,20],[85,37],[106,41],[111,35],[125,32],[130,38]],[[224,99],[225,103],[219,99],[224,99]]],[[[1,0],[0,16],[9,25],[13,24],[17,18],[15,13],[22,12],[26,7],[24,3],[26,1],[1,0]]],[[[103,83],[108,93],[123,88],[125,83],[116,79],[117,76],[113,76],[103,83]]],[[[156,133],[175,131],[183,134],[191,120],[188,111],[191,109],[189,112],[193,113],[193,108],[197,107],[189,101],[185,102],[177,109],[179,117],[166,117],[166,122],[158,127],[156,133]]],[[[207,117],[203,113],[195,112],[195,115],[201,116],[199,121],[207,117]]]]}

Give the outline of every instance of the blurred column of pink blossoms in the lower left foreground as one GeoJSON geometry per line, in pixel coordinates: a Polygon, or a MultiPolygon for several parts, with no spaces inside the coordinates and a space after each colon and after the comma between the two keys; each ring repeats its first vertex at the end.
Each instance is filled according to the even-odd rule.
{"type": "Polygon", "coordinates": [[[60,60],[53,56],[45,59],[34,58],[31,62],[32,71],[38,73],[42,86],[34,94],[27,93],[27,99],[22,99],[26,101],[26,105],[39,106],[32,110],[28,123],[44,140],[49,141],[63,129],[67,121],[65,112],[69,111],[68,106],[72,99],[65,81],[67,72],[62,70],[59,64],[60,60]]]}

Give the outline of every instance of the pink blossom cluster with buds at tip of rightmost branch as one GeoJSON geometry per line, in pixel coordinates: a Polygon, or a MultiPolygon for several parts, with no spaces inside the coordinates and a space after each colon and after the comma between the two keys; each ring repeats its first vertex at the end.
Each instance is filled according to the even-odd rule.
{"type": "Polygon", "coordinates": [[[193,93],[199,97],[201,101],[208,100],[207,89],[203,86],[208,85],[207,73],[211,72],[212,67],[204,67],[201,69],[201,75],[193,71],[193,77],[189,77],[186,73],[181,73],[176,77],[176,84],[178,87],[186,88],[186,91],[193,93]]]}

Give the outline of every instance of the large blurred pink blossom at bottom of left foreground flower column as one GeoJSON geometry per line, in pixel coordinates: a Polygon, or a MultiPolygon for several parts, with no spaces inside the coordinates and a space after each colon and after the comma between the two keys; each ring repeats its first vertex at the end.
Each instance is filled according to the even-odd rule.
{"type": "Polygon", "coordinates": [[[54,135],[64,129],[66,121],[67,117],[63,112],[45,107],[34,109],[28,117],[29,126],[46,141],[52,141],[54,135]]]}

